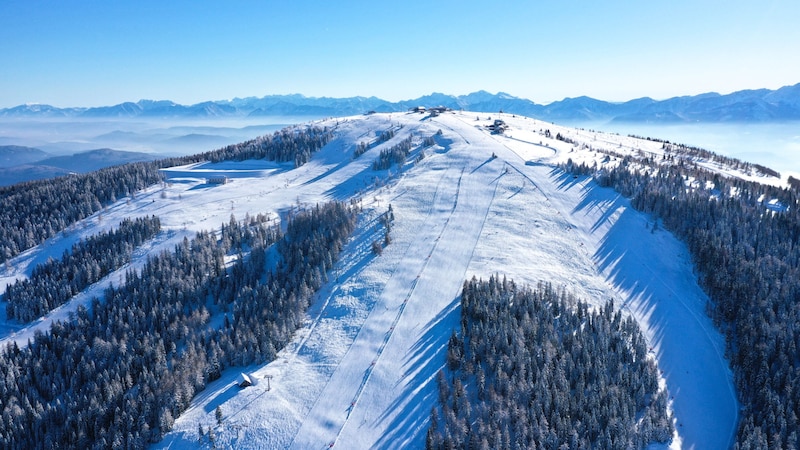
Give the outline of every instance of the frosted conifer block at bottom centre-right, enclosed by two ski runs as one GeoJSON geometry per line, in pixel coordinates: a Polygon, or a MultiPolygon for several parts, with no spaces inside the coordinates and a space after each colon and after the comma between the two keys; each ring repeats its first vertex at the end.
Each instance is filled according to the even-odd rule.
{"type": "Polygon", "coordinates": [[[673,433],[635,320],[549,284],[466,281],[428,449],[645,448],[673,433]]]}

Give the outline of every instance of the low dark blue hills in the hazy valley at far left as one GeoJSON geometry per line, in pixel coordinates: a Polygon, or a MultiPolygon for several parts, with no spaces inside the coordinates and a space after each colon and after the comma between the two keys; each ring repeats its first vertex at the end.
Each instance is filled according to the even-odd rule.
{"type": "Polygon", "coordinates": [[[70,156],[53,156],[37,148],[19,145],[0,146],[0,186],[42,180],[70,173],[87,173],[129,162],[151,161],[149,153],[101,148],[70,156]]]}

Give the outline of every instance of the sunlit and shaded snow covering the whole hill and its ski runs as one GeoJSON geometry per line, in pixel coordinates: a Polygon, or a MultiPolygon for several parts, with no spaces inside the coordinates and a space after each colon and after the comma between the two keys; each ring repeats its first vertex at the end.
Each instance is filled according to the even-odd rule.
{"type": "MultiPolygon", "coordinates": [[[[554,166],[568,158],[600,162],[601,147],[657,154],[659,143],[508,114],[372,114],[322,124],[337,138],[300,168],[248,161],[170,169],[168,183],[121,200],[0,269],[0,281],[24,277],[46,255],[60,255],[77,237],[129,216],[161,217],[164,231],[145,249],[160,251],[197,230],[218,228],[231,214],[280,220],[298,206],[360,199],[360,225],[292,342],[269,364],[225,371],[154,448],[197,448],[199,426],[211,427],[216,442],[229,448],[424,447],[435,375],[459,325],[462,283],[495,273],[552,282],[595,305],[613,300],[640,323],[662,371],[676,417],[669,447],[732,444],[738,411],[732,375],[685,246],[614,191],[554,166]],[[509,126],[504,135],[486,128],[497,118],[509,126]],[[352,159],[357,143],[389,128],[396,130],[393,139],[352,159]],[[553,138],[540,133],[545,129],[553,138]],[[438,130],[424,159],[414,162],[412,153],[402,170],[371,169],[381,148],[409,134],[421,145],[438,130]],[[557,133],[576,143],[555,140],[557,133]],[[205,184],[220,174],[232,181],[205,184]],[[392,242],[378,256],[371,243],[383,239],[377,218],[389,205],[392,242]],[[252,386],[238,387],[241,373],[252,386]]],[[[99,295],[124,270],[86,295],[99,295]]],[[[73,299],[50,320],[67,319],[82,302],[73,299]]],[[[23,345],[48,326],[0,321],[0,344],[23,345]]]]}

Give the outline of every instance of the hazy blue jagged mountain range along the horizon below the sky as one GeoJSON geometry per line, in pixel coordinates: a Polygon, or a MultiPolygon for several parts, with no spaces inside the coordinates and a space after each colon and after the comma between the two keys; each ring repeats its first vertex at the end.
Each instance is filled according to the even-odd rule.
{"type": "Polygon", "coordinates": [[[412,100],[390,102],[377,97],[305,97],[300,94],[268,95],[180,105],[169,100],[140,100],[95,108],[57,108],[31,104],[0,109],[0,117],[85,118],[216,118],[258,116],[346,116],[368,111],[400,112],[415,106],[446,106],[480,112],[504,111],[548,121],[615,121],[649,123],[770,122],[800,120],[800,83],[777,90],[744,90],[720,95],[627,102],[607,102],[590,97],[566,98],[547,105],[499,92],[478,91],[453,96],[433,93],[412,100]]]}

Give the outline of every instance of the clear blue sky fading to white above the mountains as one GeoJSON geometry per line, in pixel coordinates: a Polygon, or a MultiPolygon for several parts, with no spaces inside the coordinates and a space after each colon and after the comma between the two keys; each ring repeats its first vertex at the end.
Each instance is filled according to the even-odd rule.
{"type": "Polygon", "coordinates": [[[797,0],[2,0],[0,108],[800,82],[797,0]]]}

